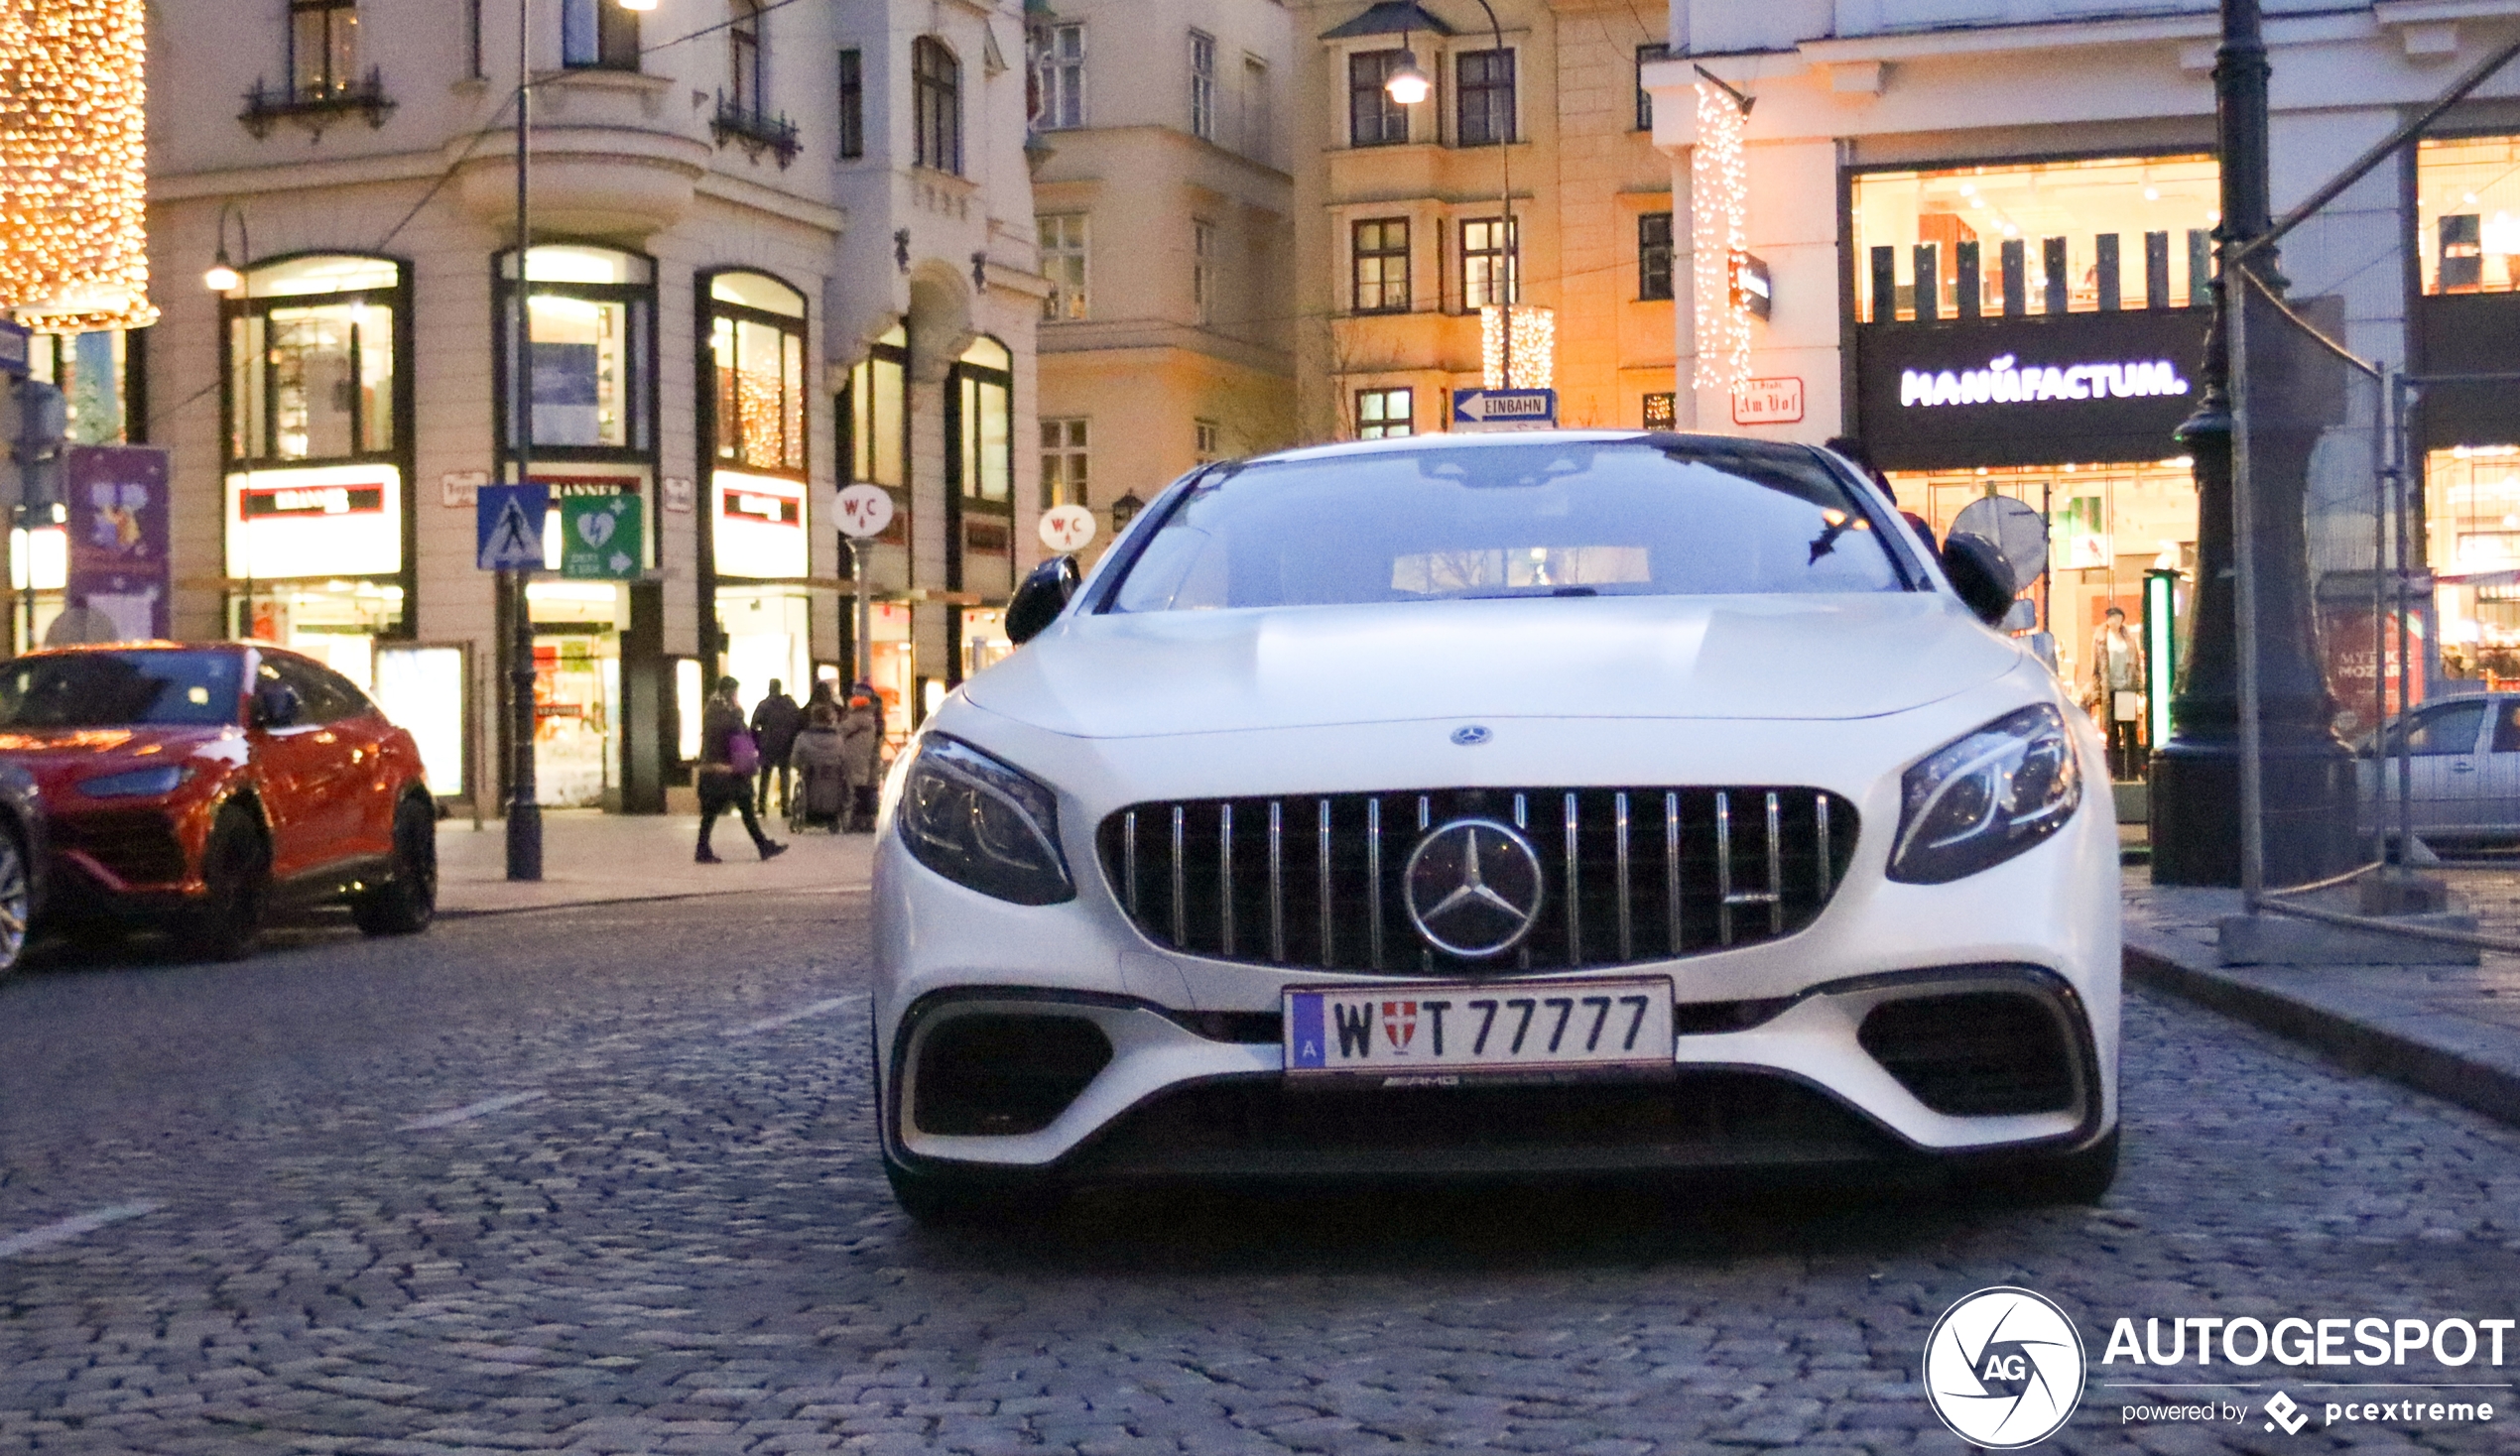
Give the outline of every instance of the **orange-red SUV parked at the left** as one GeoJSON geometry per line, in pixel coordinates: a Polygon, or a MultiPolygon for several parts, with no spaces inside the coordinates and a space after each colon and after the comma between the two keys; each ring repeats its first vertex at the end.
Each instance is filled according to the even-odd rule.
{"type": "Polygon", "coordinates": [[[368,935],[436,917],[421,751],[348,678],[262,642],[55,647],[0,665],[0,758],[38,783],[50,919],[169,924],[244,955],[275,904],[368,935]]]}

